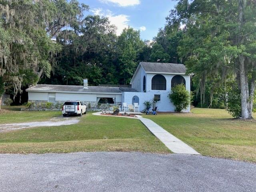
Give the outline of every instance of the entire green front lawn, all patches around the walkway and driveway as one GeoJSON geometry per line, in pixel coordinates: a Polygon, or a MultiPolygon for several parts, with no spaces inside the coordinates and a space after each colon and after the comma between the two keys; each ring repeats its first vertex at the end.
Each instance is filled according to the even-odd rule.
{"type": "MultiPolygon", "coordinates": [[[[61,112],[20,112],[12,108],[0,113],[0,124],[56,116],[61,116],[61,112]]],[[[201,108],[194,108],[189,114],[158,113],[144,117],[202,155],[256,162],[256,120],[237,120],[225,110],[201,108]]],[[[78,151],[170,153],[139,120],[94,116],[90,112],[74,125],[0,133],[0,153],[78,151]]]]}

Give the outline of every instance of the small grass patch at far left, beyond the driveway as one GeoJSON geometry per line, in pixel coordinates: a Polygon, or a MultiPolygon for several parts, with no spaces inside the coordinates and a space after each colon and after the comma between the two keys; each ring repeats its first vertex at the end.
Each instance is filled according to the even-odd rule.
{"type": "Polygon", "coordinates": [[[0,124],[45,121],[60,115],[60,112],[52,111],[22,112],[19,106],[2,107],[2,112],[0,112],[0,124]]]}

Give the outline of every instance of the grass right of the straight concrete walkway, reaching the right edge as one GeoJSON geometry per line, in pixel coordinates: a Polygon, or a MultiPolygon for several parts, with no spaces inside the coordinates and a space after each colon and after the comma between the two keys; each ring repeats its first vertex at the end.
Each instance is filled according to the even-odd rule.
{"type": "MultiPolygon", "coordinates": [[[[254,114],[256,116],[256,114],[254,114]]],[[[144,116],[202,155],[256,162],[256,120],[233,119],[222,109],[144,116]]]]}

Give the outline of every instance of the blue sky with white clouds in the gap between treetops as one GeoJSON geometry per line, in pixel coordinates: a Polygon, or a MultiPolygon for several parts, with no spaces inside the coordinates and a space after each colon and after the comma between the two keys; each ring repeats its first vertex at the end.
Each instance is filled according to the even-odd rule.
{"type": "Polygon", "coordinates": [[[143,40],[152,40],[158,29],[164,27],[172,0],[79,0],[90,6],[89,14],[107,16],[117,26],[119,35],[123,28],[131,26],[140,30],[143,40]]]}

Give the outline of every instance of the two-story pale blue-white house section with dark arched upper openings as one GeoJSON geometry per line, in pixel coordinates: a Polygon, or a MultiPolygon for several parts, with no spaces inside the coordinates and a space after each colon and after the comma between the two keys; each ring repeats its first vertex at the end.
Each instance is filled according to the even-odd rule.
{"type": "MultiPolygon", "coordinates": [[[[176,84],[184,84],[190,91],[190,75],[183,64],[140,62],[130,84],[138,92],[122,92],[122,102],[139,103],[142,109],[145,101],[156,98],[158,111],[174,112],[168,94],[176,84]]],[[[183,112],[190,112],[190,106],[183,112]]]]}

